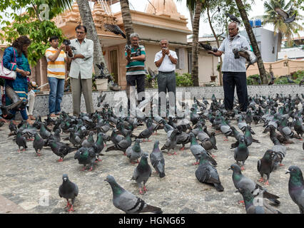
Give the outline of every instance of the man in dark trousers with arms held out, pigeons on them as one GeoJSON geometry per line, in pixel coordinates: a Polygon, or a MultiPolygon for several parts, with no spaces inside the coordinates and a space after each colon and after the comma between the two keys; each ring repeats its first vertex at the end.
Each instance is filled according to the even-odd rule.
{"type": "Polygon", "coordinates": [[[232,112],[234,88],[236,86],[240,111],[245,112],[248,108],[246,60],[241,56],[241,53],[239,53],[238,56],[237,50],[240,48],[248,48],[248,50],[250,50],[250,46],[246,38],[238,34],[238,23],[231,22],[228,26],[228,33],[229,36],[224,39],[218,51],[208,51],[208,53],[214,56],[221,56],[225,53],[221,70],[223,72],[224,103],[226,110],[230,113],[232,112]],[[233,51],[236,54],[234,54],[233,51]]]}

